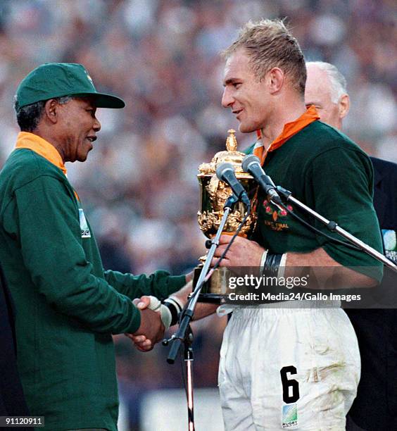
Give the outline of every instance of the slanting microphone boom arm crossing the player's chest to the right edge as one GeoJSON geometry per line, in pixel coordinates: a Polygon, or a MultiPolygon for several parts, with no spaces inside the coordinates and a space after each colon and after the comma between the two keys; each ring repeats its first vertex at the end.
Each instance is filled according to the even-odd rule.
{"type": "MultiPolygon", "coordinates": [[[[356,238],[354,235],[351,235],[346,230],[339,227],[337,223],[334,221],[327,220],[327,218],[323,217],[316,211],[314,211],[312,208],[309,208],[305,204],[303,204],[301,201],[298,201],[298,199],[295,199],[294,196],[292,196],[292,193],[289,192],[289,190],[284,189],[281,186],[277,186],[277,192],[282,195],[282,197],[285,199],[286,202],[291,202],[291,204],[296,205],[301,210],[305,211],[306,213],[309,213],[310,215],[313,215],[313,217],[317,220],[319,220],[321,223],[327,226],[328,230],[331,232],[336,232],[341,237],[344,237],[348,240],[348,242],[351,242],[351,244],[354,244],[362,251],[365,251],[365,253],[369,254],[373,258],[377,259],[378,261],[381,261],[384,263],[385,266],[388,268],[391,268],[393,271],[397,272],[397,265],[390,261],[386,256],[384,256],[382,253],[379,253],[379,251],[373,249],[371,246],[365,244],[365,242],[361,241],[360,239],[356,238]]],[[[273,202],[274,204],[279,204],[276,202],[273,202]]]]}

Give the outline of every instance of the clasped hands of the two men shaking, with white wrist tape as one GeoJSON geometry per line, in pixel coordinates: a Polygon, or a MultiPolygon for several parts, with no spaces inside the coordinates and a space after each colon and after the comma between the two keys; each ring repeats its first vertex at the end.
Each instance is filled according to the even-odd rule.
{"type": "Polygon", "coordinates": [[[138,350],[149,351],[164,337],[165,330],[177,323],[183,304],[176,296],[165,299],[163,304],[155,296],[141,296],[133,303],[141,312],[141,325],[134,334],[125,335],[138,350]]]}

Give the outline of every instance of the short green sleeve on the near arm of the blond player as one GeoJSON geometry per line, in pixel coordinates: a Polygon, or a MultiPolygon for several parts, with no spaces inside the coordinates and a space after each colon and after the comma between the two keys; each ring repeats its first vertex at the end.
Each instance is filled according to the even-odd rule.
{"type": "MultiPolygon", "coordinates": [[[[310,176],[313,188],[306,192],[313,196],[315,211],[382,252],[379,223],[372,204],[373,169],[370,158],[358,150],[329,149],[315,157],[306,175],[310,176]]],[[[347,239],[329,232],[322,223],[316,222],[315,225],[322,232],[347,242],[347,239]]],[[[317,242],[341,265],[361,267],[356,268],[358,272],[382,280],[382,263],[364,251],[337,244],[322,235],[317,235],[317,242]]]]}

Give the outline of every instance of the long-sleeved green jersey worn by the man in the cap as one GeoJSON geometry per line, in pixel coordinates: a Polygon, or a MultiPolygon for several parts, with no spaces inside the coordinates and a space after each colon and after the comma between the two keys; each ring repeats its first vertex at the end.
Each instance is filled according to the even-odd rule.
{"type": "Polygon", "coordinates": [[[30,413],[45,416],[51,431],[116,430],[111,334],[139,327],[131,299],[166,297],[185,277],[103,272],[73,187],[59,167],[30,149],[13,151],[0,173],[0,242],[30,413]]]}

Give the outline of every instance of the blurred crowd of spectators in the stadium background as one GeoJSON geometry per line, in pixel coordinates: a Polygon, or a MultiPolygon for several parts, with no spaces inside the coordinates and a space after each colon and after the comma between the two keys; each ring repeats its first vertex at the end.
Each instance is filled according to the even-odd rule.
{"type": "MultiPolygon", "coordinates": [[[[234,116],[222,108],[219,52],[247,20],[284,18],[305,57],[334,63],[348,81],[346,134],[368,154],[397,162],[397,28],[393,0],[1,0],[0,165],[18,126],[13,95],[45,62],[82,63],[96,88],[125,99],[99,110],[99,139],[85,163],[68,163],[96,233],[105,268],[173,274],[204,252],[198,229],[197,167],[225,149],[234,116]]],[[[239,149],[253,135],[237,133],[239,149]]],[[[195,387],[216,386],[225,321],[194,324],[195,387]]],[[[182,387],[167,349],[135,351],[115,337],[120,392],[131,430],[139,400],[182,387]]]]}

